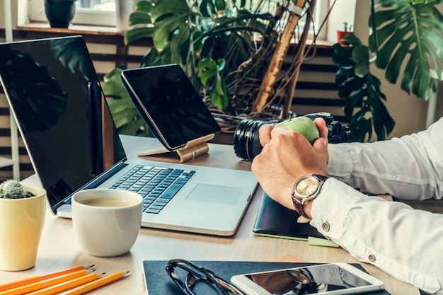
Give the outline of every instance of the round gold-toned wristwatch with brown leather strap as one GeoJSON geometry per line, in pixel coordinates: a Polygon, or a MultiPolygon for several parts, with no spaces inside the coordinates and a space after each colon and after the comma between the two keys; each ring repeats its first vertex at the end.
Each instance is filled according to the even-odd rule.
{"type": "Polygon", "coordinates": [[[309,174],[302,176],[294,183],[292,189],[292,202],[295,211],[301,216],[309,219],[303,211],[303,204],[309,199],[315,199],[320,192],[321,185],[328,179],[327,176],[319,174],[309,174]]]}

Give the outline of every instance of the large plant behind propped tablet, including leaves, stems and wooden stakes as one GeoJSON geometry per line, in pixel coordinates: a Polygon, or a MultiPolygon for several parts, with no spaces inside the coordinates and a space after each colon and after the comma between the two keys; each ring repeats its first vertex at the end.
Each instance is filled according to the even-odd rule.
{"type": "MultiPolygon", "coordinates": [[[[301,39],[307,37],[309,25],[301,37],[295,36],[299,16],[275,1],[259,2],[253,7],[251,1],[139,1],[130,15],[125,44],[152,36],[154,45],[140,66],[180,64],[217,120],[228,122],[223,131],[234,132],[229,128],[235,129],[245,117],[281,120],[291,105],[294,80],[305,57],[306,39],[301,39]],[[260,11],[270,5],[275,6],[272,13],[260,11]],[[292,61],[287,64],[293,38],[298,39],[298,45],[293,45],[298,48],[292,50],[292,61]],[[297,50],[302,53],[294,54],[297,50]],[[274,74],[282,64],[286,71],[274,74]],[[274,80],[266,79],[270,71],[274,80]],[[268,93],[256,105],[262,89],[268,93]]],[[[298,5],[306,11],[309,24],[315,1],[297,1],[298,5]]],[[[120,134],[146,134],[147,127],[120,81],[122,69],[105,75],[103,91],[110,111],[120,134]]]]}

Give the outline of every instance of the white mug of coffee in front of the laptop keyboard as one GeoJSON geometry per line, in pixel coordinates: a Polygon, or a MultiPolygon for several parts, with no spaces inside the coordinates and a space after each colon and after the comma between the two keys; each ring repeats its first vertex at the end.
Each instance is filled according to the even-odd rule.
{"type": "Polygon", "coordinates": [[[86,253],[113,257],[132,248],[142,222],[141,195],[127,190],[81,190],[71,205],[74,235],[86,253]]]}

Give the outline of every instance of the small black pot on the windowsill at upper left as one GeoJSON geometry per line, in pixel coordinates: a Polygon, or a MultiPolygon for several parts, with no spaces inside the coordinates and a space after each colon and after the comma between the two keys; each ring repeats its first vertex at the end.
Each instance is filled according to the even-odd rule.
{"type": "Polygon", "coordinates": [[[45,0],[45,13],[51,28],[68,28],[76,9],[77,0],[45,0]]]}

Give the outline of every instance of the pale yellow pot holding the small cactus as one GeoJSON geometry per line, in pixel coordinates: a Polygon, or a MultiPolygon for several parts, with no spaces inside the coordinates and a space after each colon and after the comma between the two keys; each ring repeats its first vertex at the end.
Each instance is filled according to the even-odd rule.
{"type": "Polygon", "coordinates": [[[35,197],[0,198],[0,270],[28,270],[35,265],[46,212],[46,191],[25,186],[35,197]]]}

